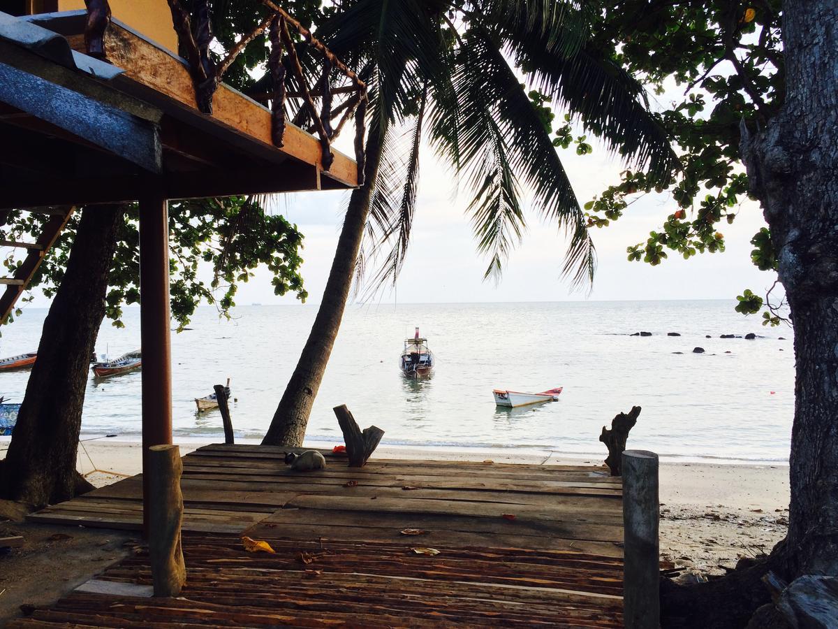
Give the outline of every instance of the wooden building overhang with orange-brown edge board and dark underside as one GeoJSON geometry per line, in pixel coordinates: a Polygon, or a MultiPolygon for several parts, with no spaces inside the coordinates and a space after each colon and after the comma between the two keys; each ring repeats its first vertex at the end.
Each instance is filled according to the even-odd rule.
{"type": "Polygon", "coordinates": [[[358,185],[353,159],[333,148],[324,170],[318,138],[290,122],[274,146],[270,110],[229,86],[199,112],[186,62],[116,20],[103,72],[79,52],[85,19],[26,18],[59,36],[40,46],[0,39],[0,208],[132,201],[149,185],[167,199],[358,185]]]}

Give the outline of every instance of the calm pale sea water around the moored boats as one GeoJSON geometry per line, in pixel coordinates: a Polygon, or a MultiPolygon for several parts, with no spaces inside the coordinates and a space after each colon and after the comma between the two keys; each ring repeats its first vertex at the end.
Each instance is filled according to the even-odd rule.
{"type": "MultiPolygon", "coordinates": [[[[342,443],[332,408],[345,403],[362,426],[385,429],[385,444],[601,458],[603,425],[639,404],[643,412],[629,447],[669,457],[787,460],[792,330],[765,329],[732,306],[726,300],[350,307],[308,438],[342,443]],[[432,377],[420,381],[406,379],[397,366],[414,325],[437,357],[432,377]],[[629,336],[638,330],[654,335],[629,336]],[[667,336],[670,331],[681,335],[667,336]],[[765,338],[719,338],[747,332],[765,338]],[[693,354],[696,346],[706,353],[693,354]],[[491,394],[495,387],[537,392],[557,386],[564,387],[561,401],[531,408],[496,408],[491,394]]],[[[34,350],[45,314],[28,309],[5,328],[0,353],[34,350]]],[[[192,330],[172,337],[176,437],[223,435],[220,413],[198,415],[193,398],[227,377],[236,398],[231,413],[237,436],[261,437],[315,314],[312,305],[253,305],[226,321],[215,309],[199,309],[192,330]]],[[[116,356],[138,347],[139,311],[127,309],[125,322],[126,330],[106,322],[96,351],[116,356]]],[[[27,372],[0,374],[0,394],[19,402],[27,378],[27,372]]],[[[140,374],[91,378],[82,430],[138,436],[140,374]]]]}

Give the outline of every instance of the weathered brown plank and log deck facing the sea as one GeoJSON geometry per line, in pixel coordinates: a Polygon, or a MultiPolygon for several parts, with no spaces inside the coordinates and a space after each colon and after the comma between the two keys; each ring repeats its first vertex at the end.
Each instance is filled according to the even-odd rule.
{"type": "MultiPolygon", "coordinates": [[[[329,459],[295,474],[283,451],[184,457],[180,598],[148,598],[141,551],[9,626],[621,626],[621,486],[602,468],[329,459]]],[[[134,477],[30,518],[139,528],[140,492],[134,477]]]]}

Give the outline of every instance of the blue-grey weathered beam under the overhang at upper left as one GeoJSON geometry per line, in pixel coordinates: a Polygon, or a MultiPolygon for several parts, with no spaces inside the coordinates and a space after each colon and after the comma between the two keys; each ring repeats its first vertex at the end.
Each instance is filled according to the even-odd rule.
{"type": "Polygon", "coordinates": [[[163,169],[159,129],[152,122],[4,63],[0,101],[152,173],[163,169]]]}

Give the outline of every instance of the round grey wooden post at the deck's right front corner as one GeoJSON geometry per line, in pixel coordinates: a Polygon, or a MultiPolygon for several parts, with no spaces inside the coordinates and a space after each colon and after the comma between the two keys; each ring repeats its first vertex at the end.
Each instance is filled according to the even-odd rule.
{"type": "Polygon", "coordinates": [[[623,623],[660,627],[658,455],[623,452],[623,623]]]}

